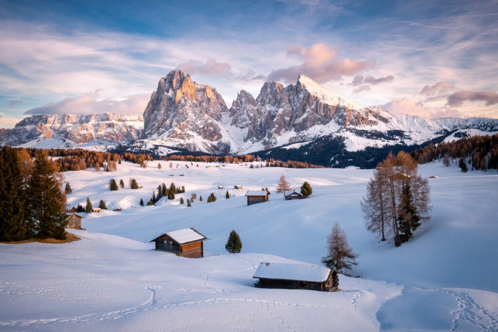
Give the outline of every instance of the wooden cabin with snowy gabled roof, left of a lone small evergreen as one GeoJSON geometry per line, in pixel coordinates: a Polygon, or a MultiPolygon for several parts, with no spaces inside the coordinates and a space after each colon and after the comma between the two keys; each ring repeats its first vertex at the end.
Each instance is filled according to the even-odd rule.
{"type": "Polygon", "coordinates": [[[191,227],[161,234],[150,242],[155,242],[156,250],[172,252],[182,257],[199,258],[204,257],[204,241],[207,239],[191,227]]]}

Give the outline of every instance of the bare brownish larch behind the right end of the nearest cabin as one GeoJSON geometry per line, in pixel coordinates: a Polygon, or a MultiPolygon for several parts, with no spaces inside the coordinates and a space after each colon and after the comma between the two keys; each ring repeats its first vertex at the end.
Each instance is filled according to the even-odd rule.
{"type": "Polygon", "coordinates": [[[353,248],[349,245],[346,234],[339,226],[339,222],[336,221],[331,233],[327,236],[327,256],[322,258],[322,263],[342,272],[357,265],[357,258],[358,255],[353,253],[353,248]]]}

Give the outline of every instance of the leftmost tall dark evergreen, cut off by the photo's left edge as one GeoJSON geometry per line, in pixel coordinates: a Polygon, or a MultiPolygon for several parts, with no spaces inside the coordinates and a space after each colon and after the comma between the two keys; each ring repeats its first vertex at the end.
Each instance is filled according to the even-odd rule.
{"type": "Polygon", "coordinates": [[[30,235],[28,204],[17,153],[0,151],[0,241],[20,241],[30,235]]]}

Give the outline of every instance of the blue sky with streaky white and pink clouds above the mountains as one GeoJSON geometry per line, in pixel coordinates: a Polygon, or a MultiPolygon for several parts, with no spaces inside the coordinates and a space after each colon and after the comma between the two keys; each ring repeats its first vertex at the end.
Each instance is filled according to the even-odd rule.
{"type": "Polygon", "coordinates": [[[0,128],[143,113],[173,69],[228,106],[304,74],[362,104],[498,118],[498,1],[0,0],[0,128]]]}

